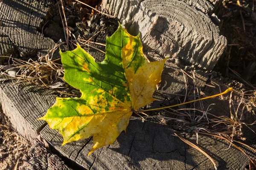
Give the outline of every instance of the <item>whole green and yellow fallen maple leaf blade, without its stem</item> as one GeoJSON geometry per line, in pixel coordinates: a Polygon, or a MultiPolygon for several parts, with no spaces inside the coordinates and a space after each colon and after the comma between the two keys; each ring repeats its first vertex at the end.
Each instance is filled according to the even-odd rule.
{"type": "Polygon", "coordinates": [[[79,45],[61,52],[64,80],[80,89],[81,97],[57,98],[40,119],[61,133],[63,144],[91,135],[90,153],[113,144],[126,130],[132,112],[155,100],[152,94],[161,81],[165,61],[148,62],[140,34],[131,36],[121,26],[107,37],[103,62],[95,62],[79,45]]]}

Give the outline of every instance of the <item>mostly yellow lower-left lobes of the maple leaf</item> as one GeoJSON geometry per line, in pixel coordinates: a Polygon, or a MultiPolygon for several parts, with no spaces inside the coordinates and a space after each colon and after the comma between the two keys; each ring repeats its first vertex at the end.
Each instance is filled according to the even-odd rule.
{"type": "MultiPolygon", "coordinates": [[[[93,102],[89,105],[80,105],[77,102],[79,105],[73,107],[74,101],[67,99],[57,98],[47,114],[40,118],[40,120],[45,120],[50,128],[61,133],[64,138],[62,145],[93,135],[93,148],[91,150],[93,152],[99,147],[113,144],[119,134],[128,126],[132,114],[131,108],[120,102],[117,104],[118,101],[115,99],[109,103],[110,108],[113,109],[111,111],[105,111],[104,108],[93,102]],[[91,108],[98,112],[94,114],[91,108]],[[73,110],[73,112],[64,115],[65,110],[73,110]],[[53,115],[53,111],[56,114],[53,115]]],[[[78,100],[78,98],[73,99],[78,100]]]]}

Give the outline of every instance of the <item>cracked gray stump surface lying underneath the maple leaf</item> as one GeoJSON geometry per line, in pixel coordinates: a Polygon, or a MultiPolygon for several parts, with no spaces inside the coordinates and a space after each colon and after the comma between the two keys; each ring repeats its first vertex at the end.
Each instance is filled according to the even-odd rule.
{"type": "MultiPolygon", "coordinates": [[[[159,99],[162,102],[166,99],[173,99],[174,101],[177,99],[175,94],[170,94],[177,90],[172,87],[177,86],[184,89],[182,72],[177,74],[174,71],[176,71],[175,68],[170,66],[164,71],[159,90],[165,89],[169,94],[158,91],[155,95],[160,96],[159,99]]],[[[197,73],[195,73],[195,77],[198,78],[194,82],[198,82],[198,87],[203,88],[207,78],[197,73]]],[[[186,82],[191,81],[186,77],[186,82]]],[[[214,82],[211,85],[214,85],[214,82]]],[[[188,87],[191,86],[188,84],[188,87]]],[[[86,169],[175,169],[177,167],[178,169],[192,169],[194,167],[199,170],[213,169],[212,163],[204,155],[194,148],[190,148],[177,137],[172,136],[174,133],[183,136],[182,133],[172,130],[166,125],[141,122],[140,120],[131,120],[126,134],[121,133],[113,145],[100,148],[90,156],[87,154],[92,147],[92,139],[70,142],[61,147],[63,138],[60,133],[50,129],[48,125],[44,127],[44,121],[35,122],[35,119],[43,116],[47,108],[54,103],[53,91],[35,85],[20,85],[18,93],[16,88],[12,86],[5,85],[1,86],[0,89],[3,111],[10,117],[12,125],[18,132],[30,141],[40,133],[62,155],[86,169]]],[[[210,89],[213,89],[212,93],[215,93],[216,88],[210,89]]],[[[211,93],[210,89],[207,91],[211,93]]],[[[184,90],[181,90],[180,93],[183,94],[184,90]]],[[[220,101],[220,98],[215,99],[220,101]]],[[[210,103],[210,101],[208,102],[210,103]]],[[[154,104],[148,105],[149,108],[153,106],[154,104]]],[[[217,107],[216,109],[221,109],[221,105],[217,107]]],[[[209,112],[215,113],[214,111],[209,112]]],[[[229,112],[221,113],[229,114],[229,112]]],[[[190,137],[187,134],[185,136],[195,143],[195,135],[190,137]]],[[[231,150],[219,151],[221,148],[227,148],[229,144],[206,136],[201,136],[199,141],[199,146],[214,158],[219,169],[233,167],[241,169],[246,166],[247,157],[233,147],[231,150]]],[[[247,150],[246,148],[243,149],[247,150]]]]}

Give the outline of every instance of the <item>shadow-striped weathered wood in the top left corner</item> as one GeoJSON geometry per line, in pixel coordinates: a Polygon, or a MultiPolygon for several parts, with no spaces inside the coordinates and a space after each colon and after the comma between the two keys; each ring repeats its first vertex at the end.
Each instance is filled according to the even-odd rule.
{"type": "Polygon", "coordinates": [[[50,0],[1,0],[0,37],[9,37],[20,56],[38,51],[43,56],[54,47],[53,40],[44,37],[40,30],[49,16],[51,3],[50,0]]]}

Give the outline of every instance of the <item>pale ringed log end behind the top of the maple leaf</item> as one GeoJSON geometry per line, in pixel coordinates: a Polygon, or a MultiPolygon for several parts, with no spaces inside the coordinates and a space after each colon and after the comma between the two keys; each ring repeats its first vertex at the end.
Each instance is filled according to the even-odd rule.
{"type": "Polygon", "coordinates": [[[140,32],[144,53],[157,60],[172,56],[211,70],[227,45],[207,0],[102,0],[101,7],[140,32]]]}

